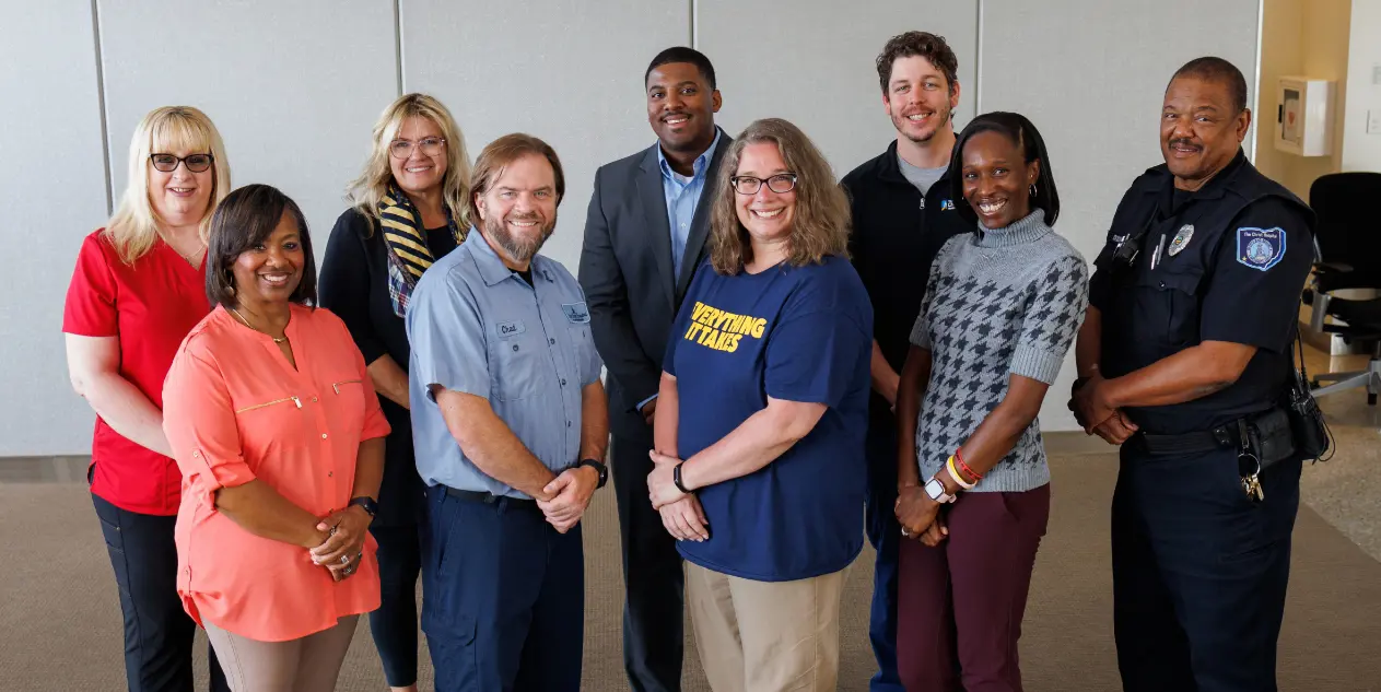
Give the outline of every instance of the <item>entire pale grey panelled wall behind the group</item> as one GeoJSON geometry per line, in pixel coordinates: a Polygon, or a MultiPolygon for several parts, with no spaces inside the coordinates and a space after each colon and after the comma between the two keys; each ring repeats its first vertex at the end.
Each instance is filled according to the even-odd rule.
{"type": "MultiPolygon", "coordinates": [[[[641,77],[673,44],[715,62],[726,130],[789,117],[842,175],[895,135],[873,66],[882,43],[913,28],[946,36],[964,86],[958,124],[982,108],[1041,127],[1065,193],[1059,231],[1088,257],[1121,191],[1159,160],[1170,73],[1211,52],[1255,83],[1257,0],[0,0],[0,184],[11,191],[0,200],[0,456],[90,448],[91,414],[66,383],[64,293],[80,239],[124,185],[134,124],[159,105],[204,109],[233,182],[296,198],[320,253],[374,119],[402,90],[429,91],[471,156],[511,131],[557,148],[568,196],[545,253],[574,268],[594,170],[652,144],[641,77]]],[[[1070,376],[1047,430],[1073,425],[1070,376]]]]}

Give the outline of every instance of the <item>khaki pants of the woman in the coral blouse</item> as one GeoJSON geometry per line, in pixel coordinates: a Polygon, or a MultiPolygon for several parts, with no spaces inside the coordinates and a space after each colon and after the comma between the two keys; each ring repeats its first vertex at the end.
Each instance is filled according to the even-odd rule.
{"type": "Polygon", "coordinates": [[[301,640],[258,641],[228,633],[209,622],[206,638],[221,659],[235,692],[330,692],[336,689],[358,615],[301,640]]]}

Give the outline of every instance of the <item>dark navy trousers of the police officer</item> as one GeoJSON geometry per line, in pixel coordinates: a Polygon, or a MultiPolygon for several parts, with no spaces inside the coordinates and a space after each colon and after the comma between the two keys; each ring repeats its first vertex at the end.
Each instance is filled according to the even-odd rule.
{"type": "Polygon", "coordinates": [[[1127,692],[1275,692],[1300,508],[1300,461],[1242,490],[1237,453],[1121,449],[1113,494],[1113,631],[1127,692]]]}

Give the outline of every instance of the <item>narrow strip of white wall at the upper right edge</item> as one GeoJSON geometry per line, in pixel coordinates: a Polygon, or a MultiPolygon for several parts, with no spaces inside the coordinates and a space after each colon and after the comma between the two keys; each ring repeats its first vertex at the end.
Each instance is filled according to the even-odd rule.
{"type": "Polygon", "coordinates": [[[1367,133],[1367,113],[1381,117],[1381,0],[1352,0],[1348,43],[1346,113],[1342,124],[1342,170],[1381,171],[1381,128],[1367,133]]]}

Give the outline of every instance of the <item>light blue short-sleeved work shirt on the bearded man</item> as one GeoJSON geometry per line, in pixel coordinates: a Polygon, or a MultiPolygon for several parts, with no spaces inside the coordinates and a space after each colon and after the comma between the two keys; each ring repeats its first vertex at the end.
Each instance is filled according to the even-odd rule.
{"type": "Polygon", "coordinates": [[[537,256],[528,286],[474,228],[434,264],[407,307],[409,402],[417,472],[431,485],[528,499],[485,475],[446,428],[431,385],[489,399],[554,472],[580,454],[580,395],[603,363],[574,276],[537,256]]]}

